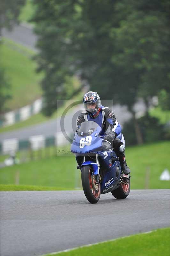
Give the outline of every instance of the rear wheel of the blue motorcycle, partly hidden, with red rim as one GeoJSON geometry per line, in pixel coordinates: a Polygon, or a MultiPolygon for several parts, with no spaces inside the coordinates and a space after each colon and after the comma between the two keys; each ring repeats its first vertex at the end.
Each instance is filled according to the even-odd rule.
{"type": "MultiPolygon", "coordinates": [[[[129,175],[123,174],[123,177],[129,178],[129,175]]],[[[111,191],[111,193],[116,199],[126,198],[130,193],[130,180],[123,179],[123,182],[120,183],[119,187],[117,189],[111,191]]]]}

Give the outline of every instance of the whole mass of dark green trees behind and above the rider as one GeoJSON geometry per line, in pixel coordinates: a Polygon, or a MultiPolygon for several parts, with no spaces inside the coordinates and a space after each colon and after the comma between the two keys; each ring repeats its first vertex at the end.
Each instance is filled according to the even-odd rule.
{"type": "Polygon", "coordinates": [[[169,86],[169,0],[34,0],[33,21],[39,35],[39,69],[46,108],[56,109],[65,77],[78,74],[101,98],[125,104],[134,117],[134,103],[169,86]],[[56,87],[60,93],[56,95],[56,87]]]}

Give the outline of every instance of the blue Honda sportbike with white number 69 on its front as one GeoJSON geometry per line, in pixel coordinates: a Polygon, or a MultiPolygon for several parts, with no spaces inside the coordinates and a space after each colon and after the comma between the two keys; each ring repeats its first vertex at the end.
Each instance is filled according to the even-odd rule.
{"type": "Polygon", "coordinates": [[[130,193],[130,176],[123,174],[119,158],[111,143],[100,136],[101,127],[93,122],[81,123],[71,144],[76,156],[77,169],[87,200],[94,204],[101,194],[111,192],[117,199],[124,199],[130,193]]]}

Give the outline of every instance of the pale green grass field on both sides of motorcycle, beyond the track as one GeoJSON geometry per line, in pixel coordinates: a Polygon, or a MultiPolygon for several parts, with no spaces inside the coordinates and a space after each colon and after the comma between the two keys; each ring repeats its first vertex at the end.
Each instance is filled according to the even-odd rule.
{"type": "MultiPolygon", "coordinates": [[[[67,149],[69,148],[70,146],[67,149]]],[[[149,189],[170,189],[170,181],[159,180],[164,169],[170,170],[169,148],[170,141],[126,148],[132,189],[145,189],[147,170],[149,170],[149,189]]],[[[1,168],[0,183],[15,184],[16,172],[19,171],[19,184],[73,189],[81,187],[81,172],[76,169],[76,165],[72,153],[62,156],[58,154],[58,156],[1,168]]]]}

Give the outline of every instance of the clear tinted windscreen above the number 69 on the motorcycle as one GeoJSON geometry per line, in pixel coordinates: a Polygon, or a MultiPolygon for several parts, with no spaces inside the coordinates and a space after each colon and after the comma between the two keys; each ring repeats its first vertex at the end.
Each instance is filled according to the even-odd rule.
{"type": "Polygon", "coordinates": [[[99,125],[93,121],[82,122],[77,134],[79,136],[87,136],[92,134],[99,125]]]}

